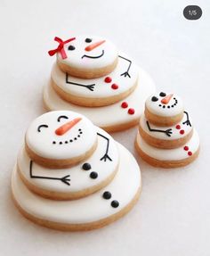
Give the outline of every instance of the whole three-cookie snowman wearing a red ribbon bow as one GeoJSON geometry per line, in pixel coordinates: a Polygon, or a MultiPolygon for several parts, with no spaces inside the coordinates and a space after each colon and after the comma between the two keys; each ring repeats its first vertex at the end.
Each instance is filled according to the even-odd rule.
{"type": "Polygon", "coordinates": [[[84,114],[107,131],[123,130],[139,122],[146,98],[155,90],[149,75],[117,47],[101,37],[55,37],[59,46],[51,81],[44,87],[50,111],[84,114]]]}

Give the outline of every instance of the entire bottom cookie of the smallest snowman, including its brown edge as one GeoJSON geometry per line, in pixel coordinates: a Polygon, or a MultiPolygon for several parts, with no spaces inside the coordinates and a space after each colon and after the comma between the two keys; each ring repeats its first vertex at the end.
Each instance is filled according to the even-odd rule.
{"type": "Polygon", "coordinates": [[[162,168],[176,168],[190,164],[198,157],[199,137],[194,129],[193,135],[186,145],[174,149],[160,149],[147,144],[138,133],[135,147],[144,161],[162,168]]]}

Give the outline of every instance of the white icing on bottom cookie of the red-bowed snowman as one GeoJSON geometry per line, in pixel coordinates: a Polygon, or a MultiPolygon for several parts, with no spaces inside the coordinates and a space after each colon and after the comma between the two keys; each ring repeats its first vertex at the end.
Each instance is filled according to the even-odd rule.
{"type": "Polygon", "coordinates": [[[140,118],[144,111],[146,98],[155,92],[155,85],[148,73],[139,70],[139,82],[133,93],[124,100],[109,106],[87,108],[68,103],[61,99],[52,89],[50,83],[44,87],[44,103],[49,110],[71,110],[84,114],[88,119],[101,128],[124,124],[140,118]],[[128,103],[128,107],[123,109],[121,103],[128,103]],[[135,113],[127,113],[129,108],[133,108],[135,113]]]}

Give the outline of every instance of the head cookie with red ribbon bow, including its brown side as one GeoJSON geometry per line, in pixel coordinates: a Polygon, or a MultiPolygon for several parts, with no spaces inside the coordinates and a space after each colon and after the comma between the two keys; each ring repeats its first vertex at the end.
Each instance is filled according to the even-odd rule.
{"type": "Polygon", "coordinates": [[[57,54],[62,71],[78,78],[99,78],[109,74],[117,66],[117,47],[108,39],[93,36],[72,37],[62,41],[48,53],[57,54]]]}

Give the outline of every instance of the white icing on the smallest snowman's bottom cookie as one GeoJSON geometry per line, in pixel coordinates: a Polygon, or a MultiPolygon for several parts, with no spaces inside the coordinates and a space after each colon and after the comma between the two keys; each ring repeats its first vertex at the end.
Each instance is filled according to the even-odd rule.
{"type": "Polygon", "coordinates": [[[181,147],[174,148],[174,149],[160,149],[157,147],[153,147],[151,145],[148,145],[143,138],[138,133],[137,135],[137,144],[141,148],[141,151],[146,153],[152,158],[155,158],[160,161],[179,161],[184,160],[188,157],[189,152],[196,153],[199,148],[199,137],[197,131],[193,130],[193,135],[190,138],[190,141],[181,147]],[[184,150],[184,146],[188,146],[189,150],[184,150]]]}

